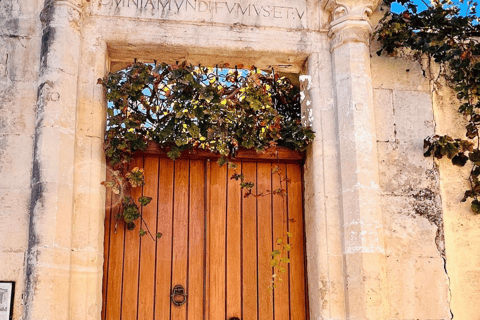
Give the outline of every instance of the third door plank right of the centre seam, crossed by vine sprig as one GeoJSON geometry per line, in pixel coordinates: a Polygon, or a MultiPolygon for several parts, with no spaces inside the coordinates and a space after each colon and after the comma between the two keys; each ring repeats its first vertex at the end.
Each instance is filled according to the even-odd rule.
{"type": "MultiPolygon", "coordinates": [[[[257,183],[257,167],[254,162],[242,163],[246,182],[257,183]]],[[[246,190],[242,191],[242,195],[246,190]]],[[[257,318],[257,201],[254,197],[243,198],[242,203],[242,317],[257,318]]]]}

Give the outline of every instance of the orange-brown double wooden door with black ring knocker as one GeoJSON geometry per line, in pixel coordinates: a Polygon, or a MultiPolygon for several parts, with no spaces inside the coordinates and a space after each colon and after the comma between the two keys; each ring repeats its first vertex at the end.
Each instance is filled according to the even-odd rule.
{"type": "Polygon", "coordinates": [[[144,155],[133,165],[144,168],[146,183],[134,197],[153,197],[143,229],[162,236],[139,237],[139,223],[125,230],[115,219],[118,199],[107,195],[104,320],[308,319],[300,164],[243,159],[229,169],[144,155]],[[235,172],[255,183],[254,195],[245,197],[235,172]],[[284,196],[272,192],[282,188],[284,196]],[[279,272],[271,253],[286,243],[292,250],[276,258],[290,263],[279,272]],[[176,285],[187,294],[181,306],[171,301],[176,285]]]}

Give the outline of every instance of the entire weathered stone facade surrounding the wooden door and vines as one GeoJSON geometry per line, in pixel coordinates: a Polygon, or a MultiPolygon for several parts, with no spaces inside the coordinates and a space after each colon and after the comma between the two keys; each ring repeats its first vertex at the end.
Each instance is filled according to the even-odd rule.
{"type": "Polygon", "coordinates": [[[96,79],[134,58],[305,75],[317,134],[305,166],[312,319],[477,318],[480,222],[459,202],[466,169],[422,155],[434,132],[461,136],[461,119],[418,63],[368,50],[377,4],[0,1],[0,280],[16,281],[14,319],[99,319],[96,79]]]}

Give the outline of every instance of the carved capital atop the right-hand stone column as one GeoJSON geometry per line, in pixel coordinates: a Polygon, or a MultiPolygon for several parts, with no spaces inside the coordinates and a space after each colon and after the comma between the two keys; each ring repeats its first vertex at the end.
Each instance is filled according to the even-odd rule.
{"type": "Polygon", "coordinates": [[[373,32],[369,17],[379,3],[380,0],[321,0],[323,9],[331,13],[331,50],[348,42],[368,44],[373,32]]]}

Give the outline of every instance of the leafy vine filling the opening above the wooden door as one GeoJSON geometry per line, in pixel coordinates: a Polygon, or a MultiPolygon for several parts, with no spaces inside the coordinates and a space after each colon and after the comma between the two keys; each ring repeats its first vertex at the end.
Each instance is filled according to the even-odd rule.
{"type": "MultiPolygon", "coordinates": [[[[123,194],[117,219],[128,229],[140,219],[141,236],[149,233],[153,238],[137,203],[146,206],[151,198],[132,198],[131,189],[144,185],[144,172],[128,164],[150,143],[173,160],[186,150],[208,150],[220,154],[218,164],[223,165],[240,148],[304,150],[314,138],[301,123],[298,87],[273,71],[135,63],[98,82],[108,100],[105,154],[111,179],[103,184],[123,194]]],[[[253,195],[253,183],[240,175],[236,180],[253,195]]]]}

